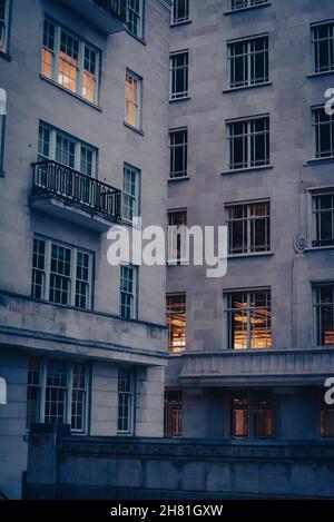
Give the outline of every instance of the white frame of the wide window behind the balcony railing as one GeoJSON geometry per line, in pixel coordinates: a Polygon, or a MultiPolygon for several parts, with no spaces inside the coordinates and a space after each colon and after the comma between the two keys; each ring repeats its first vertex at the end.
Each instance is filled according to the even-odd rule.
{"type": "Polygon", "coordinates": [[[73,170],[77,170],[78,173],[85,174],[86,176],[89,176],[91,178],[97,177],[97,161],[98,161],[98,149],[97,148],[95,148],[92,145],[89,145],[89,144],[76,138],[75,136],[71,136],[71,135],[65,132],[63,130],[60,130],[56,127],[52,127],[49,124],[46,124],[45,121],[39,122],[39,130],[38,130],[39,136],[40,136],[40,130],[41,129],[45,129],[45,130],[50,132],[50,141],[49,141],[49,154],[47,156],[43,155],[43,154],[40,154],[40,151],[38,151],[38,159],[40,161],[46,161],[46,160],[49,160],[49,159],[56,161],[57,136],[60,136],[61,138],[68,139],[68,140],[72,141],[75,144],[75,166],[69,167],[68,165],[65,165],[65,164],[62,164],[62,165],[65,165],[68,168],[72,168],[73,170]],[[91,175],[82,173],[82,170],[81,170],[81,159],[82,159],[81,149],[82,148],[91,151],[91,155],[92,155],[91,175]]]}

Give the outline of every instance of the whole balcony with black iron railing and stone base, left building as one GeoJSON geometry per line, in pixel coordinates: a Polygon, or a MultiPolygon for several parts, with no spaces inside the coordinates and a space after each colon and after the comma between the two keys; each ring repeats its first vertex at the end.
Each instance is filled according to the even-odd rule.
{"type": "Polygon", "coordinates": [[[121,191],[57,161],[32,164],[30,205],[97,232],[120,220],[121,191]]]}

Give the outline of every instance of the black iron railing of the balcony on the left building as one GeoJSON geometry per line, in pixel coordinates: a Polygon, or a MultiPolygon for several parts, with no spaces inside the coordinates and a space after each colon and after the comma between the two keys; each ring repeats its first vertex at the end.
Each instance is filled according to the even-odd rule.
{"type": "Polygon", "coordinates": [[[89,213],[120,219],[121,191],[117,188],[52,160],[32,164],[32,196],[56,196],[89,213]]]}

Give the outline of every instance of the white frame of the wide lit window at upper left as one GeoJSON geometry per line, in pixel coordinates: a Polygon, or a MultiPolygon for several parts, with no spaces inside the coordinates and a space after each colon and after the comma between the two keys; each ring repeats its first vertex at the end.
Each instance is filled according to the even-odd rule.
{"type": "MultiPolygon", "coordinates": [[[[97,49],[95,46],[91,43],[87,42],[86,40],[82,40],[82,38],[78,37],[73,32],[71,32],[69,29],[66,27],[59,24],[55,20],[52,20],[49,17],[45,18],[45,22],[48,22],[55,27],[55,42],[53,42],[53,49],[46,47],[42,45],[42,50],[47,50],[51,52],[52,58],[51,58],[51,78],[48,76],[45,76],[42,73],[42,56],[41,56],[41,76],[42,78],[49,79],[55,81],[57,85],[59,85],[62,89],[65,89],[67,92],[75,93],[79,96],[82,100],[87,101],[88,104],[92,105],[98,105],[98,99],[99,99],[99,81],[100,81],[100,68],[101,68],[101,51],[97,49]],[[68,89],[66,86],[63,86],[59,80],[58,80],[58,75],[59,75],[59,57],[60,57],[60,43],[61,43],[61,32],[66,33],[67,36],[73,38],[76,41],[78,41],[79,45],[79,56],[78,56],[78,62],[77,62],[77,88],[76,91],[72,91],[71,89],[68,89]],[[95,93],[94,93],[94,99],[90,100],[89,98],[84,96],[84,72],[86,71],[85,69],[85,50],[89,49],[96,55],[96,71],[94,75],[95,79],[95,93]]],[[[45,33],[45,26],[43,26],[43,33],[45,33]]]]}

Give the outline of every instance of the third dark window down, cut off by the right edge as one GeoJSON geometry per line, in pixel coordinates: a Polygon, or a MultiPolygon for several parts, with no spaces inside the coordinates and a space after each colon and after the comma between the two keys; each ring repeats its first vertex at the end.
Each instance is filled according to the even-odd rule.
{"type": "Polygon", "coordinates": [[[334,245],[334,194],[313,196],[315,240],[313,246],[334,245]]]}

